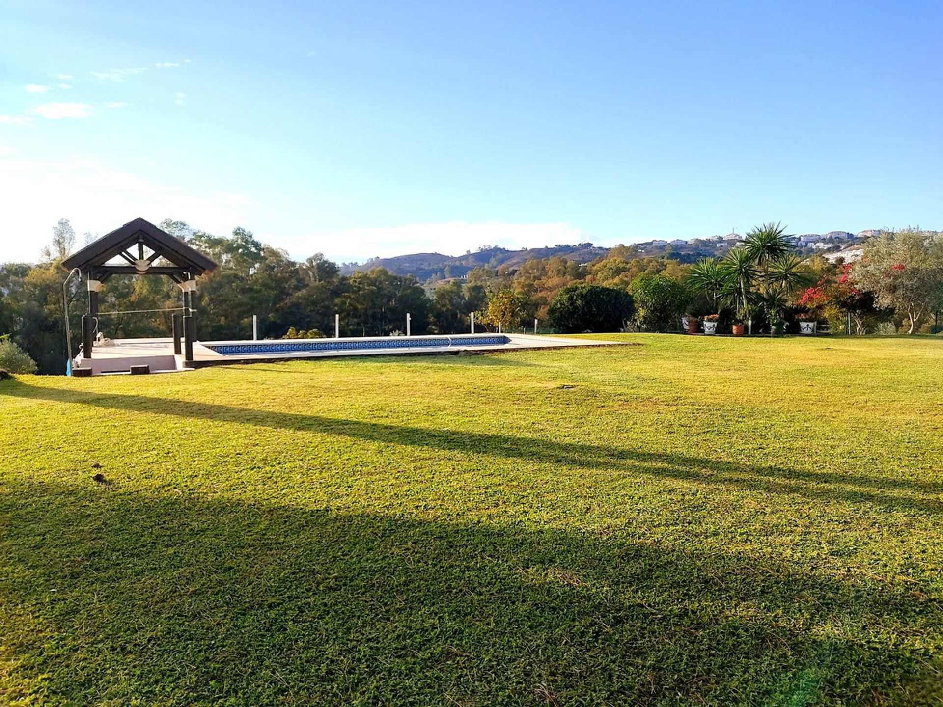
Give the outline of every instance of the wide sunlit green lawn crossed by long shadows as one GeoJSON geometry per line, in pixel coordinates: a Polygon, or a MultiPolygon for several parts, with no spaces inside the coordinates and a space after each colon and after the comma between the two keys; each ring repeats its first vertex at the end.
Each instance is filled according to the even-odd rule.
{"type": "Polygon", "coordinates": [[[620,338],[0,382],[0,703],[940,703],[943,340],[620,338]]]}

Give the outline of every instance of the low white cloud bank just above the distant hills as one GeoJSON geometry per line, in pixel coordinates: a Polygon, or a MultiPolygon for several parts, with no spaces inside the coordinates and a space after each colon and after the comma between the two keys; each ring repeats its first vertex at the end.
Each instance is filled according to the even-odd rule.
{"type": "Polygon", "coordinates": [[[296,257],[330,253],[335,257],[442,253],[462,255],[482,245],[504,248],[538,248],[584,240],[583,232],[569,223],[504,223],[462,221],[408,223],[381,228],[354,228],[338,233],[281,238],[279,245],[296,257]],[[341,252],[342,249],[342,252],[341,252]]]}

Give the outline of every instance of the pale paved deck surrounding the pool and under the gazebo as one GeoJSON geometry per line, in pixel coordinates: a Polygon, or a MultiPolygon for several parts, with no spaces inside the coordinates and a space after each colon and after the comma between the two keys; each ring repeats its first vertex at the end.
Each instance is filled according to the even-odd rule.
{"type": "MultiPolygon", "coordinates": [[[[296,352],[262,352],[258,354],[220,354],[210,346],[252,343],[290,343],[291,341],[324,341],[325,339],[277,339],[265,341],[207,341],[195,342],[193,345],[193,361],[184,365],[183,356],[174,354],[174,339],[172,338],[123,338],[115,339],[108,346],[98,344],[91,352],[91,359],[76,357],[74,366],[91,368],[92,375],[106,375],[127,373],[131,366],[147,365],[152,373],[172,372],[205,368],[207,366],[226,366],[240,363],[261,363],[283,361],[297,358],[339,358],[341,356],[399,356],[399,355],[436,355],[459,354],[461,352],[488,353],[521,351],[525,349],[563,349],[579,346],[618,346],[618,341],[601,341],[588,338],[570,337],[542,337],[532,334],[505,334],[509,340],[504,344],[474,343],[475,335],[457,335],[452,337],[451,346],[402,346],[395,349],[351,349],[341,351],[296,351],[296,352]]],[[[486,336],[486,335],[482,335],[486,336]]],[[[491,335],[494,336],[494,335],[491,335]]],[[[339,338],[328,339],[339,342],[364,342],[377,340],[380,337],[339,338]]],[[[388,337],[389,338],[389,337],[388,337]]],[[[419,340],[431,338],[446,338],[443,335],[432,337],[412,337],[419,340]]]]}

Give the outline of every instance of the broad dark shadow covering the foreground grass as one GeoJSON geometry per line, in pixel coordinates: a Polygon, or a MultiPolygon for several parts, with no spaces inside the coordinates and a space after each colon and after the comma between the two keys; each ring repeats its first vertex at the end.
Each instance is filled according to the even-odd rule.
{"type": "Polygon", "coordinates": [[[0,487],[0,527],[13,702],[905,704],[935,689],[932,602],[765,556],[28,481],[0,487]]]}

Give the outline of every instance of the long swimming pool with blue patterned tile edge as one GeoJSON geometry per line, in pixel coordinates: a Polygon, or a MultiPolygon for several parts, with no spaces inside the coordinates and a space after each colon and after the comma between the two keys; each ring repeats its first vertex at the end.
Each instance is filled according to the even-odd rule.
{"type": "Polygon", "coordinates": [[[456,334],[436,337],[305,338],[263,341],[207,341],[207,349],[223,356],[253,354],[302,354],[402,349],[465,348],[504,346],[511,339],[503,334],[456,334]]]}

